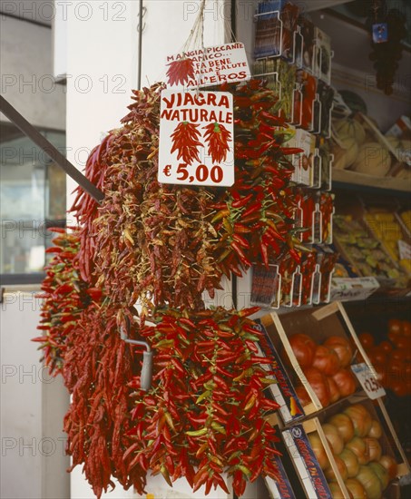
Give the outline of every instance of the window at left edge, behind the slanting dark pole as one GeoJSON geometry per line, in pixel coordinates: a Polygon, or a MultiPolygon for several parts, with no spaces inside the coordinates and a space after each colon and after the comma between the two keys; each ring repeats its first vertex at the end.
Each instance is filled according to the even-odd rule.
{"type": "MultiPolygon", "coordinates": [[[[64,153],[64,132],[40,130],[64,153]]],[[[3,284],[40,282],[51,226],[65,226],[65,173],[14,124],[0,123],[0,274],[3,284]]]]}

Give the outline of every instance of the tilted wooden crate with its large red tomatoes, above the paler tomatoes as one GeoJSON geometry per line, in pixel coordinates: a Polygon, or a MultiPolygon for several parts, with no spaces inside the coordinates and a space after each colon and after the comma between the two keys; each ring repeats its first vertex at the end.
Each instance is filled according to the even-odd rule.
{"type": "MultiPolygon", "coordinates": [[[[266,347],[269,347],[271,355],[276,359],[273,368],[278,383],[269,389],[280,406],[279,413],[286,425],[306,416],[314,415],[329,404],[337,402],[338,399],[358,391],[360,386],[351,372],[350,366],[352,364],[364,363],[371,374],[375,374],[347,313],[339,301],[324,307],[301,309],[287,314],[270,313],[260,318],[259,321],[267,338],[268,346],[266,347]],[[292,339],[297,334],[299,338],[292,339]],[[339,396],[335,393],[335,386],[331,386],[332,383],[328,381],[328,378],[318,377],[318,369],[312,367],[313,354],[308,351],[312,347],[311,343],[309,347],[299,346],[298,361],[292,345],[296,339],[300,340],[301,335],[304,338],[311,338],[317,344],[316,352],[318,350],[320,354],[328,354],[330,347],[327,349],[319,347],[327,340],[335,343],[341,342],[342,347],[340,345],[334,347],[339,347],[340,351],[342,348],[344,355],[348,357],[344,362],[344,367],[339,367],[338,373],[335,375],[338,375],[339,396]],[[349,348],[346,352],[347,345],[349,348]],[[303,357],[307,357],[307,359],[303,357]],[[311,362],[309,357],[311,357],[311,362]],[[306,373],[310,376],[308,374],[306,376],[306,373]],[[313,374],[317,377],[314,381],[311,376],[313,374]],[[316,386],[312,386],[308,379],[311,380],[311,384],[315,383],[316,386]],[[332,394],[329,393],[330,388],[334,389],[332,394]],[[328,396],[327,393],[329,393],[328,396]],[[333,396],[331,397],[331,395],[333,396]]],[[[333,353],[330,353],[329,357],[328,364],[338,363],[339,357],[336,360],[333,353]]],[[[316,365],[318,366],[318,364],[316,365]]],[[[335,366],[331,367],[332,369],[336,368],[335,366]]],[[[320,374],[323,375],[322,369],[320,374]]]]}

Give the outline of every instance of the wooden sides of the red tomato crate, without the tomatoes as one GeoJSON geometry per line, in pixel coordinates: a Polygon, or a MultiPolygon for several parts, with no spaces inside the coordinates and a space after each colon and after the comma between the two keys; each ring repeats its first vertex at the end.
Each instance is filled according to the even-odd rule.
{"type": "Polygon", "coordinates": [[[293,423],[304,416],[313,415],[324,408],[318,400],[318,396],[308,384],[308,380],[290,347],[289,338],[294,333],[308,334],[318,344],[325,341],[329,336],[348,339],[357,348],[357,358],[362,357],[362,361],[375,374],[374,367],[372,367],[347,317],[347,313],[339,301],[324,307],[298,310],[284,315],[270,313],[260,318],[260,322],[265,329],[266,336],[269,338],[271,353],[276,358],[275,374],[279,382],[274,385],[272,396],[279,403],[279,412],[285,424],[293,423]],[[292,367],[281,362],[281,358],[284,359],[285,355],[289,357],[289,364],[292,367]],[[296,396],[295,384],[291,381],[292,378],[299,381],[299,384],[306,388],[310,399],[309,403],[303,405],[299,402],[296,396]],[[296,397],[297,400],[295,400],[296,397]],[[297,410],[292,411],[292,406],[297,406],[297,410]],[[302,411],[298,411],[298,407],[302,407],[302,411]]]}

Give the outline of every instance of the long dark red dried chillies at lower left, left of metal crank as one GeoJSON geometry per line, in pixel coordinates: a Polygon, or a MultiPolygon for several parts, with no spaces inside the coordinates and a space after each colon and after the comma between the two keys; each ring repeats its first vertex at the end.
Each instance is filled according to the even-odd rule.
{"type": "MultiPolygon", "coordinates": [[[[127,310],[128,312],[128,310],[127,310]]],[[[64,384],[72,401],[64,417],[67,453],[73,469],[83,464],[83,473],[100,497],[113,485],[143,486],[145,472],[138,467],[128,473],[123,456],[123,435],[130,429],[132,389],[128,382],[140,369],[118,334],[118,308],[93,304],[71,331],[73,347],[64,359],[64,384]]],[[[129,332],[133,338],[135,326],[129,332]]]]}

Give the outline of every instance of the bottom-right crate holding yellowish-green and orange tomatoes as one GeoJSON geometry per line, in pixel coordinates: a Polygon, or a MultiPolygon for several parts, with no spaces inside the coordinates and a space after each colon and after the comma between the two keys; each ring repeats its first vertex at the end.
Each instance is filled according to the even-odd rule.
{"type": "MultiPolygon", "coordinates": [[[[358,416],[357,413],[357,417],[362,416],[358,416]]],[[[406,455],[398,441],[382,399],[379,398],[373,403],[365,393],[358,393],[348,399],[341,400],[334,406],[328,407],[319,413],[318,416],[306,419],[298,425],[285,427],[281,433],[297,470],[299,480],[309,498],[350,497],[347,486],[351,486],[354,480],[357,480],[356,476],[358,474],[362,475],[360,480],[364,480],[364,475],[367,476],[368,474],[372,482],[375,478],[372,475],[372,473],[375,474],[373,470],[375,467],[379,467],[376,463],[379,463],[382,456],[384,456],[383,459],[386,464],[387,462],[394,463],[393,460],[395,460],[397,465],[396,469],[392,468],[391,476],[383,473],[385,475],[385,486],[381,485],[381,488],[384,488],[384,490],[377,490],[376,496],[390,499],[398,498],[399,485],[397,479],[410,473],[406,455]],[[374,433],[371,433],[371,427],[367,426],[366,418],[360,420],[359,427],[354,426],[354,436],[347,435],[347,425],[343,426],[341,421],[338,422],[338,418],[341,418],[341,416],[346,417],[346,419],[347,416],[350,417],[349,414],[352,413],[348,411],[354,411],[354,414],[356,414],[358,405],[367,409],[373,420],[373,425],[376,425],[376,421],[379,423],[374,427],[374,433]],[[344,411],[347,411],[347,413],[344,411]],[[332,423],[328,423],[328,421],[332,423]],[[338,429],[338,424],[342,429],[338,429]],[[361,424],[364,424],[364,426],[361,427],[361,424]],[[363,436],[358,436],[357,432],[363,436]],[[338,436],[334,437],[335,434],[338,436]],[[344,441],[341,435],[344,435],[347,441],[344,441]],[[376,437],[376,435],[378,436],[376,437]],[[357,460],[354,463],[352,460],[351,462],[343,461],[343,459],[348,459],[347,454],[349,453],[347,450],[355,454],[351,449],[353,446],[356,449],[361,449],[361,445],[364,445],[365,450],[364,455],[359,454],[361,455],[359,464],[357,464],[357,460]],[[342,464],[341,461],[343,461],[342,464]],[[346,462],[351,463],[349,471],[347,471],[346,462]],[[371,463],[372,465],[369,467],[368,465],[371,463]],[[347,480],[348,478],[350,480],[347,480]]],[[[360,450],[357,452],[362,453],[360,450]]],[[[381,470],[381,468],[379,469],[381,470]]],[[[376,481],[378,482],[377,478],[374,482],[376,481]]],[[[380,484],[382,484],[382,481],[380,484]]],[[[372,486],[378,489],[378,484],[372,486]]],[[[367,497],[371,497],[373,492],[375,493],[375,491],[368,491],[367,497]]]]}

